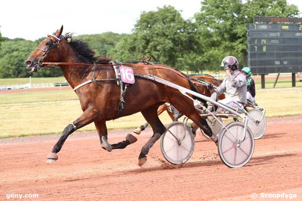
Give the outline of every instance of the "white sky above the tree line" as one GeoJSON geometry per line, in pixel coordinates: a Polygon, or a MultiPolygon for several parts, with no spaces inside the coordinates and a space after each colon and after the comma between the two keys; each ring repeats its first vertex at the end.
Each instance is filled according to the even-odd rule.
{"type": "MultiPolygon", "coordinates": [[[[64,25],[63,33],[130,33],[142,11],[164,5],[182,10],[184,19],[193,17],[201,0],[6,0],[0,8],[0,32],[8,38],[36,40],[64,25]]],[[[301,0],[287,0],[302,12],[301,0]]],[[[300,16],[302,17],[302,15],[300,16]]]]}

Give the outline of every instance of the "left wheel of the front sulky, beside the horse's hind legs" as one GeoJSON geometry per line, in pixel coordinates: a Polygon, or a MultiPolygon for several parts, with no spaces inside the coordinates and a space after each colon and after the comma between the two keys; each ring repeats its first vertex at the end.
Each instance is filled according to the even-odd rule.
{"type": "Polygon", "coordinates": [[[167,126],[161,139],[161,150],[172,164],[185,163],[194,151],[194,137],[191,130],[181,122],[172,122],[167,126]]]}

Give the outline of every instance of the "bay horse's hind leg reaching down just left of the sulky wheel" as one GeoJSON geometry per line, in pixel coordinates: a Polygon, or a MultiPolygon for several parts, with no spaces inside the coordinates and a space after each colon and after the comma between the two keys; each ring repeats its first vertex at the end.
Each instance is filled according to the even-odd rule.
{"type": "Polygon", "coordinates": [[[160,139],[160,137],[166,132],[166,127],[163,125],[157,114],[158,106],[152,106],[141,112],[145,120],[152,126],[153,136],[147,141],[147,143],[141,148],[138,156],[138,165],[142,166],[147,161],[147,156],[150,148],[160,139]]]}

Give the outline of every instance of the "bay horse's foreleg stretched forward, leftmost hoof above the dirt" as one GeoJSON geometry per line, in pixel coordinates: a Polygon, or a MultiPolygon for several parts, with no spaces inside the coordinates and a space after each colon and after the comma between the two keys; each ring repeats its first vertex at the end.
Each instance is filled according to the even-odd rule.
{"type": "Polygon", "coordinates": [[[92,108],[88,108],[77,120],[72,122],[72,124],[67,125],[58,142],[53,146],[51,152],[48,153],[46,163],[51,163],[58,159],[57,153],[61,150],[65,140],[71,133],[94,122],[96,118],[97,112],[92,108]]]}

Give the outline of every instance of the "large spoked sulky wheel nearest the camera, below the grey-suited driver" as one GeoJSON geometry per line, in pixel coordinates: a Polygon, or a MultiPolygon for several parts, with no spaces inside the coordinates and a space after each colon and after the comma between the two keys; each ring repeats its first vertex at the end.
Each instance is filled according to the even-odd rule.
{"type": "Polygon", "coordinates": [[[222,162],[229,167],[242,167],[249,162],[254,152],[254,137],[247,127],[244,136],[244,124],[232,122],[225,126],[218,139],[218,154],[222,162]],[[242,142],[240,142],[242,141],[242,142]]]}

